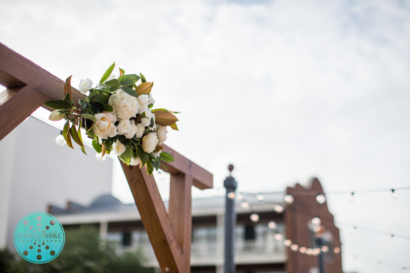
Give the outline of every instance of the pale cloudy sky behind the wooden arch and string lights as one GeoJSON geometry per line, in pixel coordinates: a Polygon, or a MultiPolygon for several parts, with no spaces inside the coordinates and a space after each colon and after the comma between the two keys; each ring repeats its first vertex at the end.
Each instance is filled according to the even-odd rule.
{"type": "MultiPolygon", "coordinates": [[[[74,87],[113,61],[153,80],[155,106],[181,112],[166,144],[220,193],[230,163],[242,192],[410,186],[410,1],[2,0],[0,42],[74,87]]],[[[409,192],[327,203],[337,221],[410,235],[409,192]]],[[[340,233],[348,253],[410,268],[409,240],[340,233]]],[[[350,256],[343,269],[400,271],[350,256]]]]}

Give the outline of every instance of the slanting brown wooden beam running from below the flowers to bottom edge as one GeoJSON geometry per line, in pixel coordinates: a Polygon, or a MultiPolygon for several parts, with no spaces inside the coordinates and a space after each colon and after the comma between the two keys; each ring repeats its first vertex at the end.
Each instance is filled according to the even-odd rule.
{"type": "Polygon", "coordinates": [[[170,218],[154,176],[148,176],[146,167],[127,166],[120,161],[150,239],[162,272],[185,273],[182,267],[182,250],[171,225],[170,218]],[[166,270],[169,267],[171,271],[166,270]]]}

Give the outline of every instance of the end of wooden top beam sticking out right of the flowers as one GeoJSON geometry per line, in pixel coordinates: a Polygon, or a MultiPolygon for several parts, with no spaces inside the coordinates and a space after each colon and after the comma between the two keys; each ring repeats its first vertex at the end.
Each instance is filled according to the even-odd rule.
{"type": "Polygon", "coordinates": [[[188,158],[175,152],[167,145],[164,145],[164,152],[170,153],[174,157],[173,162],[165,163],[165,168],[161,165],[161,170],[170,174],[188,174],[193,178],[193,185],[201,190],[213,188],[213,175],[188,158]]]}

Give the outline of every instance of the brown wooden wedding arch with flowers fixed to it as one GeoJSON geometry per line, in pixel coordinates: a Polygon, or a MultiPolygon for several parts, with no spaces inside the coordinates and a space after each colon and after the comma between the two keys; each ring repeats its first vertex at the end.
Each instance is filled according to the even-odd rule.
{"type": "MultiPolygon", "coordinates": [[[[64,97],[63,80],[1,43],[0,84],[7,88],[0,93],[0,140],[38,107],[47,109],[44,102],[64,97]]],[[[71,90],[72,99],[79,107],[78,99],[85,96],[73,87],[71,90]]],[[[171,174],[169,213],[154,177],[147,175],[145,167],[122,164],[122,169],[161,271],[186,273],[191,271],[191,186],[201,190],[212,188],[213,175],[168,146],[163,151],[175,159],[161,168],[171,174]]]]}

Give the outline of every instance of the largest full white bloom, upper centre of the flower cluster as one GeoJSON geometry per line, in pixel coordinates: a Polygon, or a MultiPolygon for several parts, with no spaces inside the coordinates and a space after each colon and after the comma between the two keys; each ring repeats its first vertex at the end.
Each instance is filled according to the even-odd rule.
{"type": "Polygon", "coordinates": [[[108,104],[113,108],[113,115],[120,119],[136,117],[139,109],[137,98],[122,90],[115,91],[108,100],[108,104]]]}

